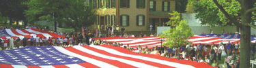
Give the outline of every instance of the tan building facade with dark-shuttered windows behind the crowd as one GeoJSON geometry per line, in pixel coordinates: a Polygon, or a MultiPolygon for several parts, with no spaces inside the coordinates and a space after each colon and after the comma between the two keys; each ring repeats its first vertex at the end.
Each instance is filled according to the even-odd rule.
{"type": "Polygon", "coordinates": [[[96,25],[119,26],[126,31],[149,31],[162,26],[175,11],[175,0],[89,0],[96,10],[96,25]]]}

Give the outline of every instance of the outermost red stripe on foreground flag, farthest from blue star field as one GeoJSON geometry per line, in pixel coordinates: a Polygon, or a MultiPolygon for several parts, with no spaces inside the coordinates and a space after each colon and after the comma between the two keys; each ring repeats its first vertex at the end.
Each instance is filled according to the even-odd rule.
{"type": "Polygon", "coordinates": [[[177,58],[167,58],[167,57],[163,57],[163,56],[156,56],[156,55],[153,55],[153,54],[137,54],[135,52],[131,52],[131,51],[126,50],[124,48],[115,47],[115,46],[102,45],[102,47],[111,48],[113,50],[117,50],[117,51],[125,53],[125,54],[132,54],[132,55],[139,55],[139,56],[145,56],[145,57],[150,57],[150,58],[156,58],[156,59],[159,59],[159,60],[169,61],[169,62],[173,62],[173,63],[180,63],[180,64],[184,64],[184,65],[192,65],[192,66],[197,67],[197,68],[214,68],[211,65],[208,65],[208,64],[205,64],[205,63],[195,63],[193,61],[177,60],[177,58]]]}

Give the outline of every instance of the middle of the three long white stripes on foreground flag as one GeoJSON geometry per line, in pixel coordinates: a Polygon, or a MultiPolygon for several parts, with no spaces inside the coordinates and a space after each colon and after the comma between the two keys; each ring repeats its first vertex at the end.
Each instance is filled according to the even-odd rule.
{"type": "Polygon", "coordinates": [[[111,59],[111,60],[117,60],[117,61],[120,61],[122,63],[126,63],[128,65],[132,65],[134,67],[139,67],[139,68],[156,68],[154,66],[151,66],[151,65],[147,65],[145,63],[139,63],[139,62],[135,62],[135,61],[130,61],[130,60],[126,60],[126,59],[123,59],[123,58],[116,58],[116,57],[113,57],[113,56],[107,56],[107,55],[104,55],[104,54],[100,54],[98,52],[94,52],[92,50],[88,50],[86,48],[83,48],[82,46],[73,46],[73,48],[76,48],[76,50],[80,50],[82,52],[87,52],[88,54],[91,54],[91,55],[94,55],[94,56],[99,56],[99,57],[102,57],[102,58],[107,58],[107,59],[111,59]]]}

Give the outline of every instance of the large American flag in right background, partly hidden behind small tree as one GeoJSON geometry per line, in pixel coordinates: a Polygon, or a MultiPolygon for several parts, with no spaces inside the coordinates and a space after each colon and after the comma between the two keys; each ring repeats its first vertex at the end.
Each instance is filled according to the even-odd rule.
{"type": "MultiPolygon", "coordinates": [[[[117,42],[127,46],[129,44],[132,48],[137,48],[139,46],[148,48],[153,48],[156,46],[160,46],[161,43],[165,43],[167,38],[160,39],[159,37],[104,37],[100,38],[103,41],[109,42],[117,42]],[[161,41],[162,40],[162,41],[161,41]]],[[[255,43],[255,36],[251,36],[251,42],[255,43]]],[[[194,35],[190,37],[188,41],[191,41],[193,44],[228,44],[228,41],[240,43],[240,35],[239,34],[225,34],[225,35],[218,35],[218,34],[207,34],[207,35],[194,35]]]]}

